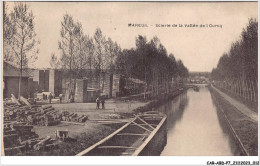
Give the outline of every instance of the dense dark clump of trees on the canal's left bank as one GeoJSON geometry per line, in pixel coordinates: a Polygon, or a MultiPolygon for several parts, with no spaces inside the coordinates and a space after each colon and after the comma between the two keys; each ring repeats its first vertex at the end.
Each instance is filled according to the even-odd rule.
{"type": "Polygon", "coordinates": [[[145,92],[151,91],[153,95],[158,95],[159,91],[168,93],[173,82],[188,77],[188,69],[182,61],[176,61],[173,54],[168,54],[157,37],[148,42],[145,36],[139,35],[136,48],[123,50],[117,57],[116,66],[123,75],[143,80],[145,92]]]}

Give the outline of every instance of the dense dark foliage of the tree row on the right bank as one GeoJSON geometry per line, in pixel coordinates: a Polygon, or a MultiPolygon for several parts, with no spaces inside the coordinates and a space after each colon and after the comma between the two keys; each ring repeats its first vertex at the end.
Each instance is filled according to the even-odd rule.
{"type": "Polygon", "coordinates": [[[256,20],[249,20],[240,40],[232,44],[229,52],[224,53],[219,59],[217,68],[212,70],[214,79],[257,79],[257,26],[256,20]]]}

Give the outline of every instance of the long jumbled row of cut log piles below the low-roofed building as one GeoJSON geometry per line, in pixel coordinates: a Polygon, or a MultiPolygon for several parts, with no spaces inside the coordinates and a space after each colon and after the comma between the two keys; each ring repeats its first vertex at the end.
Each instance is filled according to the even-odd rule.
{"type": "Polygon", "coordinates": [[[69,113],[68,111],[60,113],[51,105],[42,107],[33,106],[22,96],[22,103],[14,95],[8,101],[4,102],[5,121],[25,122],[28,125],[53,126],[59,124],[61,120],[79,123],[84,123],[88,120],[88,116],[86,115],[78,115],[76,113],[69,113]]]}

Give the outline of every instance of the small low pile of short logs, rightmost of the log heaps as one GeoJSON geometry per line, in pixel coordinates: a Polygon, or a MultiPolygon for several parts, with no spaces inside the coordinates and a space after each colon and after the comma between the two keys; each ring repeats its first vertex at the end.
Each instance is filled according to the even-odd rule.
{"type": "Polygon", "coordinates": [[[84,123],[88,120],[87,115],[78,115],[76,113],[69,113],[68,111],[63,111],[61,113],[61,120],[68,122],[80,122],[84,123]]]}

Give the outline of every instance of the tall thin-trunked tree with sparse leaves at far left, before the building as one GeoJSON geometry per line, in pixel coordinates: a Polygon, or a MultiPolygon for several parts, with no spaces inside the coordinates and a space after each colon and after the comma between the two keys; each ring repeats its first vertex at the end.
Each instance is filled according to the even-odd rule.
{"type": "Polygon", "coordinates": [[[16,2],[10,12],[7,13],[7,10],[8,6],[3,2],[3,58],[20,67],[20,98],[23,68],[37,59],[40,42],[36,39],[34,15],[28,5],[16,2]]]}

